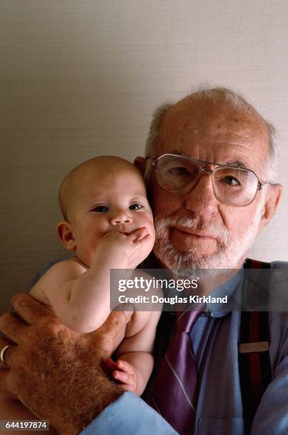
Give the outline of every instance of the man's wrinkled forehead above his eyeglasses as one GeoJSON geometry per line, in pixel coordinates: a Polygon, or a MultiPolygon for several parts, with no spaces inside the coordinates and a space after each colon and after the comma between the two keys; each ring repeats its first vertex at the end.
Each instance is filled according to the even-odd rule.
{"type": "Polygon", "coordinates": [[[225,104],[175,104],[165,114],[159,139],[157,156],[172,152],[217,163],[240,160],[255,171],[268,155],[267,127],[260,115],[225,104]]]}

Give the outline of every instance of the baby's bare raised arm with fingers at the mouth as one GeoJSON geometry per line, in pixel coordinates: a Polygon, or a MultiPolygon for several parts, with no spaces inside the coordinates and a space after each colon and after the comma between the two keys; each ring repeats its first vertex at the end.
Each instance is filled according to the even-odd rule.
{"type": "Polygon", "coordinates": [[[147,256],[145,228],[130,235],[102,237],[88,268],[76,257],[52,266],[31,289],[31,296],[50,304],[62,323],[80,333],[99,328],[110,313],[110,269],[133,269],[147,256]]]}

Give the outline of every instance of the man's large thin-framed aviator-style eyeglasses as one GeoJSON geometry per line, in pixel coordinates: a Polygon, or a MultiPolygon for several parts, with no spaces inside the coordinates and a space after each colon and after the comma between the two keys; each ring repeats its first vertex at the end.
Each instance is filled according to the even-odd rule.
{"type": "Polygon", "coordinates": [[[155,168],[158,186],[170,193],[187,194],[196,186],[201,175],[211,175],[216,198],[222,203],[236,207],[252,203],[257,190],[261,190],[265,184],[270,184],[261,183],[251,169],[177,154],[163,154],[153,160],[151,165],[155,168]],[[215,167],[207,169],[206,165],[215,167]]]}

